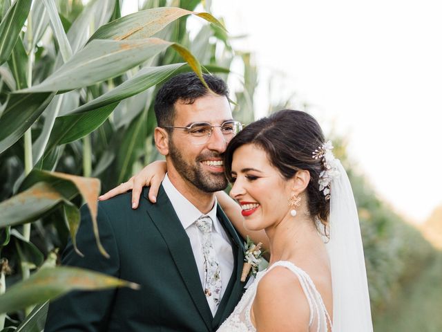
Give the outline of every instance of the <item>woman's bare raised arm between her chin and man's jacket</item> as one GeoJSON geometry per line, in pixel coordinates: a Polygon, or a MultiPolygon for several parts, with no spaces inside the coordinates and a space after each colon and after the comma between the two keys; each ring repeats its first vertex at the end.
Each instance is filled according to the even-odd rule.
{"type": "Polygon", "coordinates": [[[215,195],[222,210],[224,210],[227,217],[241,236],[244,237],[244,239],[249,236],[256,244],[262,242],[262,248],[269,250],[269,238],[264,230],[247,230],[247,228],[244,227],[244,217],[241,214],[242,210],[240,205],[231,199],[225,192],[217,192],[215,195]]]}

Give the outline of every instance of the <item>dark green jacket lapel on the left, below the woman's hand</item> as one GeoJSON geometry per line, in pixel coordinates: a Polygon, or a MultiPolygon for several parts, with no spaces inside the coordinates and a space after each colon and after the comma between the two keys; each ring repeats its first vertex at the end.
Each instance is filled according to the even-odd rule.
{"type": "MultiPolygon", "coordinates": [[[[145,192],[147,193],[148,191],[146,190],[145,192]]],[[[189,291],[207,328],[211,330],[213,318],[209,304],[202,291],[189,237],[162,186],[157,195],[157,203],[149,205],[147,212],[158,231],[162,234],[164,241],[169,247],[173,261],[175,261],[177,270],[180,272],[184,284],[186,284],[187,291],[189,291]]]]}

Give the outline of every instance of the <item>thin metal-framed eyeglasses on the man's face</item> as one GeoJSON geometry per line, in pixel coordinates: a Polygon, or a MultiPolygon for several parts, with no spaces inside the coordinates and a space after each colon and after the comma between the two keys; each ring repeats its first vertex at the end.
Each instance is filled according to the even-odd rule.
{"type": "Polygon", "coordinates": [[[224,121],[222,124],[212,126],[207,122],[195,122],[189,127],[172,127],[164,126],[163,128],[175,128],[184,129],[191,136],[191,140],[195,145],[202,145],[209,141],[210,136],[213,133],[213,128],[220,127],[224,142],[230,142],[230,140],[242,130],[241,122],[229,120],[224,121]]]}

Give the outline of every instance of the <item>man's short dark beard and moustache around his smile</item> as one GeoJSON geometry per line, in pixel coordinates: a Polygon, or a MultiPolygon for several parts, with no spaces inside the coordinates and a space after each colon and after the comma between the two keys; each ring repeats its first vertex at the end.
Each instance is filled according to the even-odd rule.
{"type": "Polygon", "coordinates": [[[182,158],[181,152],[175,147],[172,140],[169,141],[169,156],[171,157],[173,166],[186,181],[192,183],[195,187],[203,192],[218,192],[224,190],[227,187],[227,178],[223,173],[213,174],[210,172],[204,172],[202,169],[201,161],[207,160],[207,158],[219,157],[214,156],[198,156],[195,160],[195,165],[186,163],[182,158]]]}

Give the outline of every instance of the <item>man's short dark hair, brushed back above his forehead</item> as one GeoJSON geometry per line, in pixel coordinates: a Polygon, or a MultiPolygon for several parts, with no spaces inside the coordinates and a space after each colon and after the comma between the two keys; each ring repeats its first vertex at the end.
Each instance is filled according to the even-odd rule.
{"type": "MultiPolygon", "coordinates": [[[[229,97],[229,89],[227,84],[220,77],[215,75],[203,74],[204,81],[209,88],[218,93],[229,97]]],[[[208,95],[210,92],[204,86],[195,73],[183,73],[172,77],[164,83],[158,91],[155,98],[154,110],[157,117],[158,127],[173,126],[175,119],[174,104],[177,100],[186,104],[193,104],[196,99],[208,95]]]]}

